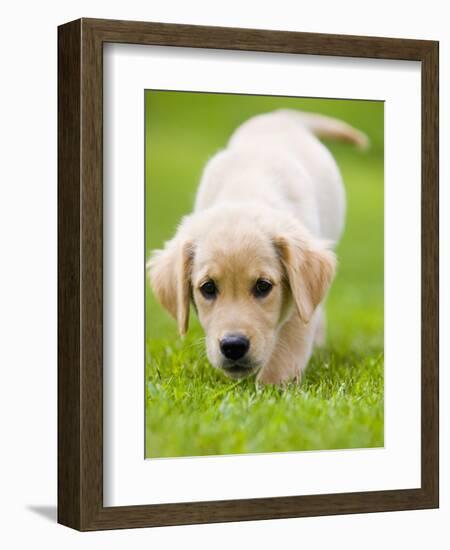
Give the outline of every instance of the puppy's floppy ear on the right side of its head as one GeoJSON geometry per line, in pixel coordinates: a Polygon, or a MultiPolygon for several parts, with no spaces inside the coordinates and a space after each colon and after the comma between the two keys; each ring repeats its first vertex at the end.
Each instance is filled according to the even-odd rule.
{"type": "Polygon", "coordinates": [[[308,323],[333,280],[336,256],[326,243],[305,235],[279,235],[275,246],[298,314],[304,323],[308,323]]]}

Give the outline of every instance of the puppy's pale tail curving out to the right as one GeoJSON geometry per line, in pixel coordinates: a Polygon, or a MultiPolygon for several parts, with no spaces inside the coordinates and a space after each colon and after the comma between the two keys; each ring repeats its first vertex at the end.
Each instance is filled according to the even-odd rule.
{"type": "Polygon", "coordinates": [[[366,150],[369,148],[369,138],[363,132],[360,132],[350,124],[316,113],[304,113],[291,109],[283,109],[280,112],[287,116],[295,118],[302,126],[307,128],[318,138],[336,139],[338,141],[347,141],[356,145],[358,149],[366,150]]]}

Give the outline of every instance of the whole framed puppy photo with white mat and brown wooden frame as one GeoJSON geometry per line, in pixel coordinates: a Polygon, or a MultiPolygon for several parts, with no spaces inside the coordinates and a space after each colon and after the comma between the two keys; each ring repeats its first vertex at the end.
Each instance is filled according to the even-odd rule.
{"type": "Polygon", "coordinates": [[[438,43],[58,51],[58,521],[437,507],[438,43]]]}

